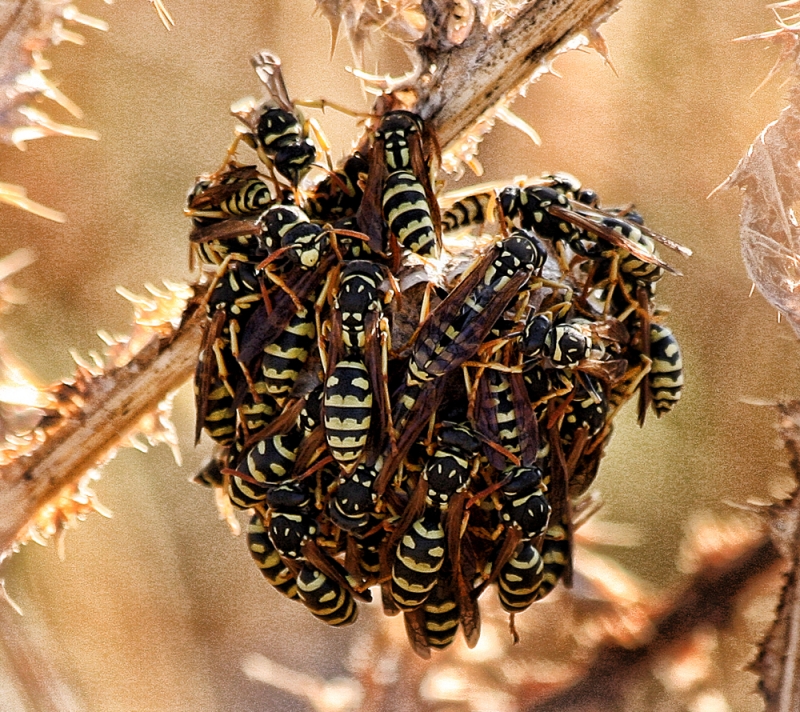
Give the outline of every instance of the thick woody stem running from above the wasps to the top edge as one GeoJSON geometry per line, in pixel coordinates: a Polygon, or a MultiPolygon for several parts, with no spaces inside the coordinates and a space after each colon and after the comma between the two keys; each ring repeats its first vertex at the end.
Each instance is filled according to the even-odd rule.
{"type": "Polygon", "coordinates": [[[458,47],[429,42],[425,63],[435,64],[436,72],[419,89],[416,110],[433,120],[441,145],[448,145],[523,85],[559,44],[596,26],[618,5],[619,0],[535,0],[496,33],[476,22],[458,47]]]}

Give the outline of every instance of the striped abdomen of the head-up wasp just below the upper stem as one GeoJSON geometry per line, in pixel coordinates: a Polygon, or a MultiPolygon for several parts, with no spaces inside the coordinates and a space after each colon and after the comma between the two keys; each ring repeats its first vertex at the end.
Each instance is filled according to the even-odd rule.
{"type": "Polygon", "coordinates": [[[396,171],[386,179],[383,215],[403,247],[423,257],[436,256],[436,230],[431,207],[425,188],[413,173],[396,171]]]}

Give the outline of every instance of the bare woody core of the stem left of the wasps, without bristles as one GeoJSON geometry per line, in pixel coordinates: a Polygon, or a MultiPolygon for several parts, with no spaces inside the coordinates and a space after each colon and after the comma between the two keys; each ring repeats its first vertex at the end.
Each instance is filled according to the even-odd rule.
{"type": "Polygon", "coordinates": [[[127,365],[93,379],[79,417],[67,420],[31,455],[0,470],[0,554],[66,485],[102,462],[146,414],[194,372],[203,310],[173,338],[154,340],[127,365]]]}

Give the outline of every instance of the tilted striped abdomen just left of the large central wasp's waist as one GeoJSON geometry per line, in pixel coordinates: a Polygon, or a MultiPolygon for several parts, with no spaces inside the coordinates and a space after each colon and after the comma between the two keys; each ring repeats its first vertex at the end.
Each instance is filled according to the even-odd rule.
{"type": "Polygon", "coordinates": [[[264,347],[261,374],[267,393],[274,398],[288,397],[308,359],[316,335],[314,314],[303,309],[291,318],[275,341],[264,347]]]}

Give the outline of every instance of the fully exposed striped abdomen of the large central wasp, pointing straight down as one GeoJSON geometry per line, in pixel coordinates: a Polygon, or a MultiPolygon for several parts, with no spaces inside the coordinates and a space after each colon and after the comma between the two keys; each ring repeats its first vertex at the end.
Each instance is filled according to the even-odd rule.
{"type": "Polygon", "coordinates": [[[331,454],[346,472],[358,463],[372,421],[372,387],[363,361],[339,361],[325,382],[323,422],[331,454]]]}

